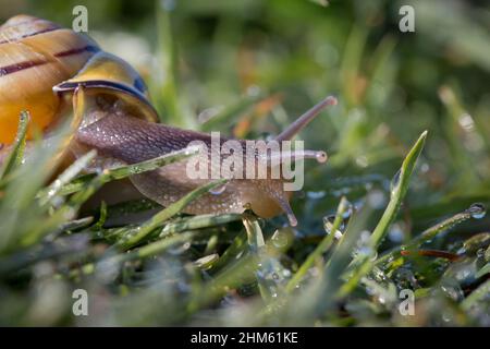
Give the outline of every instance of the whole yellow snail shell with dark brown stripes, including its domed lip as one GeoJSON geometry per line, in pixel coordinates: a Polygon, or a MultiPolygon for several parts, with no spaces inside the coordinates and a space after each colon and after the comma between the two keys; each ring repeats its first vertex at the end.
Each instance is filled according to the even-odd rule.
{"type": "Polygon", "coordinates": [[[46,130],[61,115],[61,95],[79,85],[139,104],[140,117],[156,120],[136,71],[88,36],[28,15],[0,26],[0,144],[13,141],[23,110],[30,132],[46,130]]]}

